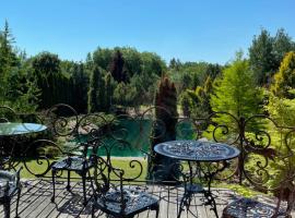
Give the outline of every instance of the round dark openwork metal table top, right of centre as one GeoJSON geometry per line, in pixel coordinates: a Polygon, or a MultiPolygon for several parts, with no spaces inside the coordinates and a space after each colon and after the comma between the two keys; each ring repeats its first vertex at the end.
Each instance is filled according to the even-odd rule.
{"type": "Polygon", "coordinates": [[[191,161],[229,160],[240,153],[231,145],[210,141],[170,141],[155,145],[154,150],[166,157],[191,161]]]}

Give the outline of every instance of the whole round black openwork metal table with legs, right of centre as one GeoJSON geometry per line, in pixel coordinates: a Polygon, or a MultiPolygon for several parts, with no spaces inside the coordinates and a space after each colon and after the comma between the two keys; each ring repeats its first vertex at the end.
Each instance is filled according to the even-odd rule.
{"type": "Polygon", "coordinates": [[[185,186],[185,194],[180,202],[179,213],[177,217],[180,217],[184,206],[189,209],[191,195],[196,192],[202,192],[206,198],[206,205],[211,205],[216,217],[217,209],[214,196],[211,192],[211,183],[213,178],[225,170],[229,164],[227,160],[234,159],[239,156],[239,149],[223,143],[215,143],[209,141],[170,141],[157,144],[154,147],[157,154],[166,157],[170,157],[178,160],[185,160],[189,164],[190,178],[189,184],[185,186]],[[193,172],[190,162],[222,162],[222,166],[215,170],[205,172],[208,178],[208,189],[200,189],[200,185],[193,185],[193,172]]]}

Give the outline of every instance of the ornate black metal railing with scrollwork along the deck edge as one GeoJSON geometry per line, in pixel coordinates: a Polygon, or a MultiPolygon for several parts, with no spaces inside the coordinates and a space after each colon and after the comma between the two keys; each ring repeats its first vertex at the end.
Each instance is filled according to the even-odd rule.
{"type": "MultiPolygon", "coordinates": [[[[137,112],[113,116],[78,114],[72,107],[62,104],[34,116],[0,107],[0,122],[15,120],[27,122],[28,120],[43,123],[48,128],[38,134],[1,136],[1,166],[15,169],[23,165],[36,177],[48,177],[52,159],[57,156],[87,153],[88,156],[98,154],[99,157],[110,158],[115,153],[121,154],[128,149],[135,149],[142,157],[148,157],[149,171],[151,170],[150,161],[155,158],[151,143],[157,142],[157,138],[165,138],[163,136],[169,134],[168,131],[170,131],[170,126],[154,116],[156,109],[169,116],[164,108],[155,107],[142,112],[134,110],[137,112]],[[30,161],[36,161],[39,166],[37,171],[36,168],[32,169],[30,161]]],[[[206,118],[177,118],[175,130],[178,140],[201,138],[223,142],[240,149],[238,160],[232,161],[229,170],[219,175],[220,180],[232,179],[239,183],[246,182],[260,190],[267,186],[275,190],[283,183],[286,186],[293,184],[295,174],[293,162],[295,128],[293,126],[281,126],[264,114],[237,118],[227,112],[214,112],[206,118]],[[285,169],[281,169],[282,166],[285,166],[285,169]],[[280,169],[281,173],[285,174],[279,172],[275,174],[272,169],[280,169]],[[273,177],[278,180],[274,182],[275,185],[266,185],[273,180],[273,177]]],[[[123,180],[129,182],[143,180],[146,167],[142,161],[137,158],[128,158],[128,161],[126,166],[128,169],[122,173],[123,180]],[[130,171],[135,171],[137,174],[130,177],[128,175],[130,171]]],[[[188,169],[187,165],[179,162],[177,165],[178,167],[173,167],[175,171],[188,169]]],[[[189,167],[203,169],[204,166],[197,164],[189,167]]],[[[219,164],[205,166],[208,169],[220,167],[219,164]]],[[[204,174],[201,170],[198,173],[204,174]]],[[[111,179],[116,179],[116,174],[111,179]]]]}

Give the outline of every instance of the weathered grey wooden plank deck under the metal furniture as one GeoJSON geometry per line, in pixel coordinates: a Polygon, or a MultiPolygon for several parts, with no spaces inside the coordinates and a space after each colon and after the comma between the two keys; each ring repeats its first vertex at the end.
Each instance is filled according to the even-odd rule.
{"type": "MultiPolygon", "coordinates": [[[[90,186],[90,185],[88,185],[90,186]]],[[[172,186],[142,186],[149,192],[153,192],[161,199],[160,217],[161,218],[175,218],[178,211],[179,201],[184,194],[182,187],[172,186]]],[[[233,201],[235,193],[228,190],[215,190],[214,193],[219,196],[216,199],[219,214],[222,209],[233,201]]],[[[20,199],[20,217],[21,218],[70,218],[70,217],[91,217],[91,201],[84,207],[82,204],[82,185],[80,182],[72,183],[72,192],[66,190],[66,183],[59,182],[57,184],[56,203],[50,202],[52,194],[52,185],[49,180],[30,180],[23,181],[22,195],[20,199]]],[[[88,189],[88,196],[91,189],[88,189]]],[[[200,217],[211,218],[214,217],[209,206],[203,206],[203,196],[196,194],[190,206],[191,213],[184,210],[181,217],[200,217]],[[193,214],[193,215],[192,215],[193,214]]],[[[15,213],[15,197],[12,202],[12,214],[15,213]]],[[[0,217],[4,217],[1,207],[0,217]]],[[[96,217],[106,217],[101,211],[96,211],[96,217]]],[[[155,217],[154,211],[145,211],[138,217],[155,217]]]]}

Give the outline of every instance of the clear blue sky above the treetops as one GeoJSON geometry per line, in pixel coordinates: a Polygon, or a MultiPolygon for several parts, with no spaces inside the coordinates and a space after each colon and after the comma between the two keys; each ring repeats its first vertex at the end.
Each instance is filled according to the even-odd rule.
{"type": "Polygon", "coordinates": [[[255,35],[279,28],[295,40],[295,0],[0,0],[15,46],[84,61],[97,47],[133,47],[167,63],[224,64],[255,35]]]}

